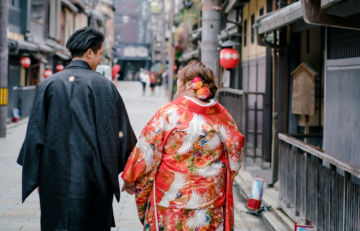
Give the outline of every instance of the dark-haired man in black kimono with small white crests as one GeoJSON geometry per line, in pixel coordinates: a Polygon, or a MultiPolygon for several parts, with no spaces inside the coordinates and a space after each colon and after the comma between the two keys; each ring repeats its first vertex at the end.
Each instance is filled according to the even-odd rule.
{"type": "Polygon", "coordinates": [[[104,35],[77,30],[66,47],[72,62],[41,82],[25,141],[22,202],[39,186],[41,230],[109,231],[115,225],[118,175],[137,139],[119,92],[95,72],[104,35]]]}

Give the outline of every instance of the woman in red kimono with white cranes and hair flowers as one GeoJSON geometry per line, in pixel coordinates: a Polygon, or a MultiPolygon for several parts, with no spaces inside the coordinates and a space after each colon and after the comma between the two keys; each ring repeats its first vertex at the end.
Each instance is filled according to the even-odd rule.
{"type": "Polygon", "coordinates": [[[232,185],[244,136],[218,102],[214,71],[190,63],[178,98],[147,123],[122,174],[144,231],[234,230],[232,185]],[[156,212],[155,212],[156,211],[156,212]]]}

